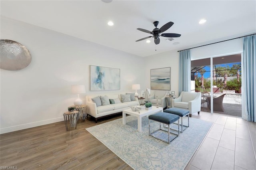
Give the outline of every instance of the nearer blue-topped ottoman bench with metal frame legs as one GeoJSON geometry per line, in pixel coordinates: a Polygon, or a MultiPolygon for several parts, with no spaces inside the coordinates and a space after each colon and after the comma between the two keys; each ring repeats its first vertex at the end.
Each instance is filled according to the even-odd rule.
{"type": "Polygon", "coordinates": [[[158,112],[158,113],[155,113],[153,115],[149,115],[148,116],[148,129],[149,129],[148,133],[149,133],[149,136],[157,138],[156,136],[153,136],[153,134],[158,132],[159,130],[164,130],[164,131],[168,132],[168,142],[161,139],[161,138],[157,138],[157,139],[162,140],[163,142],[166,142],[166,143],[170,144],[170,142],[172,142],[172,140],[174,140],[175,138],[177,138],[180,135],[180,125],[179,124],[180,124],[180,117],[178,115],[173,115],[173,114],[164,113],[164,112],[158,112]],[[155,130],[152,133],[150,133],[150,120],[157,121],[160,124],[159,129],[155,130]],[[174,123],[175,121],[178,121],[178,134],[170,132],[170,125],[172,123],[174,123]],[[161,128],[161,123],[163,123],[164,125],[167,125],[168,130],[162,129],[161,128]],[[170,141],[170,134],[176,135],[176,137],[173,138],[171,141],[170,141]]]}

